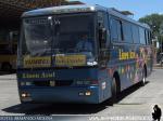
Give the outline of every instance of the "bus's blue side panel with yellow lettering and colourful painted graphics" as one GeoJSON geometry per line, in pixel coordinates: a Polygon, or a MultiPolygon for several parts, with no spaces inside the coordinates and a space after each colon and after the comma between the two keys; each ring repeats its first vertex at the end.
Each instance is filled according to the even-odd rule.
{"type": "Polygon", "coordinates": [[[112,78],[114,72],[120,75],[121,91],[142,80],[143,66],[147,67],[147,77],[152,71],[152,52],[150,46],[128,43],[113,43],[110,51],[109,71],[112,78]],[[143,51],[141,51],[143,50],[143,51]],[[128,55],[134,54],[133,57],[128,55]],[[123,56],[122,54],[127,54],[123,56]],[[124,57],[124,58],[123,58],[124,57]],[[126,57],[126,58],[125,58],[126,57]]]}

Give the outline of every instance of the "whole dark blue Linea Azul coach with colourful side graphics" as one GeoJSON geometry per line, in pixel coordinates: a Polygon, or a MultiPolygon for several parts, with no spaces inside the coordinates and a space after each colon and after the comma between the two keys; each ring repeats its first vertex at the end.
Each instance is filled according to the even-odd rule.
{"type": "Polygon", "coordinates": [[[150,27],[115,9],[63,5],[22,15],[21,103],[115,103],[151,71],[150,27]],[[84,35],[90,50],[76,48],[84,35]]]}

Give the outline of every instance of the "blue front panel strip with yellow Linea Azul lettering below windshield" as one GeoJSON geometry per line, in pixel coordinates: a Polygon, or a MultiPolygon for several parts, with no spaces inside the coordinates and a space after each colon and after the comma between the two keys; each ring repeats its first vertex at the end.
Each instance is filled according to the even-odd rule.
{"type": "Polygon", "coordinates": [[[17,77],[20,80],[33,81],[33,80],[98,80],[98,68],[65,68],[55,69],[45,68],[45,69],[18,69],[17,77]],[[52,76],[51,76],[52,75],[52,76]],[[51,79],[49,79],[51,78],[51,79]]]}

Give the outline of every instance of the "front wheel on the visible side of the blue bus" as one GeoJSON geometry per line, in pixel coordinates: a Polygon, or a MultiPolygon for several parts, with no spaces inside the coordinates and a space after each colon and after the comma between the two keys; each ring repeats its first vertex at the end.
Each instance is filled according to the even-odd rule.
{"type": "Polygon", "coordinates": [[[112,92],[111,103],[114,104],[116,103],[117,99],[117,83],[115,77],[112,80],[111,92],[112,92]]]}

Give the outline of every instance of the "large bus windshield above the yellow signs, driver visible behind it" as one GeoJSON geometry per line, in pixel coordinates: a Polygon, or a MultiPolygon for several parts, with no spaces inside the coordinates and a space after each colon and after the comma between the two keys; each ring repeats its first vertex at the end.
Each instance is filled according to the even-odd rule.
{"type": "Polygon", "coordinates": [[[23,55],[95,54],[92,14],[25,18],[23,29],[23,55]]]}

